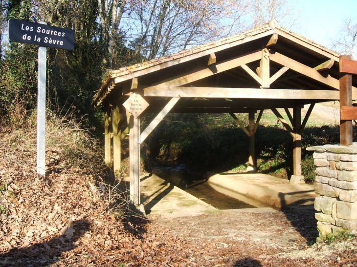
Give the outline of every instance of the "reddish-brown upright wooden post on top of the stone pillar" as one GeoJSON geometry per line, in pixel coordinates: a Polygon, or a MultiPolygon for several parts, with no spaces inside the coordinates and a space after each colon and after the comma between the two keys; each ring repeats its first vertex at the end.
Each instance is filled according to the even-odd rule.
{"type": "MultiPolygon", "coordinates": [[[[342,55],[339,57],[341,60],[351,60],[351,56],[342,55]]],[[[340,106],[352,106],[352,74],[341,72],[340,64],[340,106]]],[[[341,117],[341,116],[340,116],[341,117]]],[[[343,116],[342,116],[343,117],[343,116]]],[[[341,120],[340,118],[340,144],[352,145],[352,121],[341,120]]]]}

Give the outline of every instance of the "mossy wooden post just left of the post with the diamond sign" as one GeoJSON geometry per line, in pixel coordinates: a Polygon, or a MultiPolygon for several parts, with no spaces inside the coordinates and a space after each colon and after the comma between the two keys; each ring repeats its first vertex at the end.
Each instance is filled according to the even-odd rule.
{"type": "Polygon", "coordinates": [[[112,109],[112,129],[113,129],[113,172],[115,178],[120,178],[121,171],[121,132],[120,132],[120,110],[116,106],[112,109]]]}

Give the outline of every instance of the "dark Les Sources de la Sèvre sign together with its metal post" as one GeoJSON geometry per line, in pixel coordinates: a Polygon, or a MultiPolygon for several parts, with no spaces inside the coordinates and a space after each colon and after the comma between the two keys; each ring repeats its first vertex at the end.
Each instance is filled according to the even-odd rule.
{"type": "Polygon", "coordinates": [[[72,29],[49,26],[45,22],[35,23],[16,19],[10,19],[8,26],[10,41],[40,46],[37,84],[37,173],[45,175],[46,47],[73,49],[74,31],[72,29]]]}

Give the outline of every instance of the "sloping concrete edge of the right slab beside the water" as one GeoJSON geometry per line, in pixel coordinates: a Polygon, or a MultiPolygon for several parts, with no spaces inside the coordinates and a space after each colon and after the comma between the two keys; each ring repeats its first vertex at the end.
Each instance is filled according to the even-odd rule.
{"type": "Polygon", "coordinates": [[[313,204],[311,201],[277,192],[259,185],[248,184],[229,176],[215,174],[209,177],[207,182],[280,209],[292,205],[313,204]]]}

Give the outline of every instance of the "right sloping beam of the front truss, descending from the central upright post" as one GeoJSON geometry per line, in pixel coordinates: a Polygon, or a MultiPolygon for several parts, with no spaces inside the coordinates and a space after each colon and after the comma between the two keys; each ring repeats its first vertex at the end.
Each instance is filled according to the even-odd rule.
{"type": "Polygon", "coordinates": [[[323,77],[317,70],[306,66],[300,62],[297,62],[295,60],[292,60],[278,52],[270,52],[270,60],[276,63],[279,63],[283,66],[287,66],[290,69],[297,71],[307,77],[310,77],[318,82],[322,82],[328,86],[331,86],[335,88],[336,90],[339,90],[339,82],[337,79],[331,77],[328,75],[327,77],[323,77]]]}

